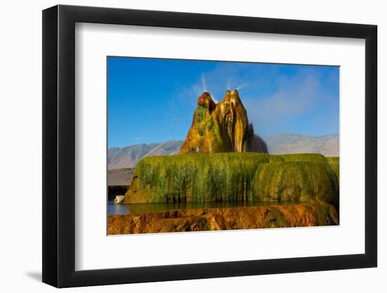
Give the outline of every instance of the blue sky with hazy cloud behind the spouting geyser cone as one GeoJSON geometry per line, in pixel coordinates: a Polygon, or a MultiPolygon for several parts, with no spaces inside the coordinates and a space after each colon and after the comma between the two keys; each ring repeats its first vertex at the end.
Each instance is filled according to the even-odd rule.
{"type": "Polygon", "coordinates": [[[227,89],[262,136],[338,134],[338,67],[108,57],[108,147],[184,140],[198,96],[227,89]]]}

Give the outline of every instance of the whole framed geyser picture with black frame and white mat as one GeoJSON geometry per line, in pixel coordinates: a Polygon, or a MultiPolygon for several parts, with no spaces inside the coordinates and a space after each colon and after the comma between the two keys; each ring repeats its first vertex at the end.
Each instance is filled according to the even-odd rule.
{"type": "Polygon", "coordinates": [[[43,11],[43,282],[377,265],[375,25],[43,11]]]}

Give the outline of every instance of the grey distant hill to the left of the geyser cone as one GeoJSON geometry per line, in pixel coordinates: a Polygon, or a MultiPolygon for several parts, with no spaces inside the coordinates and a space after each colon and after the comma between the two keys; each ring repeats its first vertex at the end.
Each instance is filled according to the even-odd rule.
{"type": "Polygon", "coordinates": [[[142,143],[125,148],[108,149],[108,169],[134,168],[143,157],[178,154],[183,141],[142,143]]]}

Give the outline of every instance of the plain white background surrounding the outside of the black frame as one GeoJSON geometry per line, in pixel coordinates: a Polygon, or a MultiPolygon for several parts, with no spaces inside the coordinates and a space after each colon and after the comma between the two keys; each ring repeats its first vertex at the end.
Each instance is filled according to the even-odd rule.
{"type": "MultiPolygon", "coordinates": [[[[51,292],[42,275],[42,9],[56,1],[1,6],[0,288],[51,292]],[[13,202],[10,202],[12,197],[13,202]]],[[[61,4],[358,22],[379,26],[379,268],[68,289],[70,292],[385,292],[387,284],[387,18],[383,1],[88,0],[61,4]],[[384,278],[383,278],[384,277],[384,278]]]]}

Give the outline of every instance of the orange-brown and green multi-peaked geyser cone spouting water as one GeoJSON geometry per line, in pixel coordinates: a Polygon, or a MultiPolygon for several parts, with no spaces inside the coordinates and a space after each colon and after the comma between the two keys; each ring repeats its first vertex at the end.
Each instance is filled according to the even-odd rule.
{"type": "Polygon", "coordinates": [[[198,98],[191,128],[180,154],[191,152],[264,152],[265,141],[254,134],[238,91],[227,91],[220,103],[204,92],[198,98]]]}

